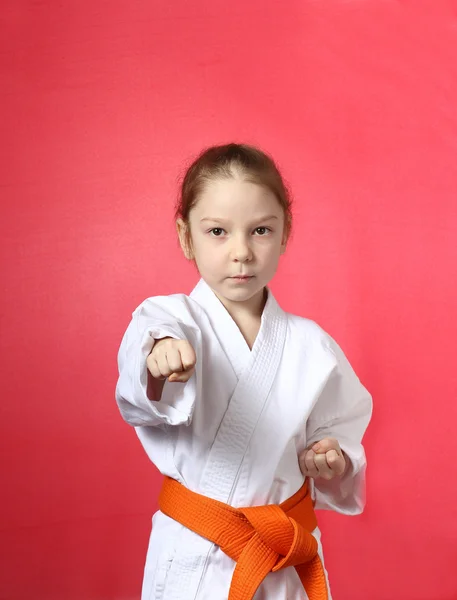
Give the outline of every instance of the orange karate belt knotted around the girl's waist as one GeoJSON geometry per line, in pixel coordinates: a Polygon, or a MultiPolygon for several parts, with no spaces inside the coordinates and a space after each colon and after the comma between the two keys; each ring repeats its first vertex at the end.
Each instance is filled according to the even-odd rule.
{"type": "Polygon", "coordinates": [[[233,508],[166,477],[159,507],[237,563],[229,600],[251,600],[268,573],[292,566],[309,600],[328,600],[317,541],[311,535],[317,520],[306,482],[282,504],[233,508]]]}

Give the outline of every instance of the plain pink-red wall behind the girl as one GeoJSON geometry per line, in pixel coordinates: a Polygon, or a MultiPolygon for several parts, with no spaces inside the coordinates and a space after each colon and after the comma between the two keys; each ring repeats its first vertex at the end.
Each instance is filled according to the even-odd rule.
{"type": "Polygon", "coordinates": [[[335,600],[457,598],[457,3],[1,6],[0,598],[138,598],[160,478],[115,406],[148,295],[189,291],[172,213],[203,146],[295,196],[273,290],[375,400],[368,507],[322,514],[335,600]]]}

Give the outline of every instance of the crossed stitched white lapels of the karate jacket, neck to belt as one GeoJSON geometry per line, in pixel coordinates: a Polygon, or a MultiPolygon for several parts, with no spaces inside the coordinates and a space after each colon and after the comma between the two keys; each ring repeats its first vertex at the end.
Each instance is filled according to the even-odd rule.
{"type": "Polygon", "coordinates": [[[199,485],[200,493],[221,502],[229,502],[279,367],[286,339],[287,317],[269,291],[260,330],[250,351],[237,325],[206,283],[200,281],[192,297],[207,311],[239,378],[199,485]]]}

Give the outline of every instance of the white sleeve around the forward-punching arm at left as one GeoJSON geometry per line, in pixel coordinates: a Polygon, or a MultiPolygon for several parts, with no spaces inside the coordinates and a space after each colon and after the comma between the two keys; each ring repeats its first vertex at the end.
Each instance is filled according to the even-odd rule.
{"type": "Polygon", "coordinates": [[[130,425],[189,425],[192,420],[201,380],[201,333],[188,302],[183,295],[149,298],[132,315],[119,348],[116,386],[119,410],[130,425]],[[165,382],[165,386],[173,386],[170,388],[172,393],[154,399],[148,397],[146,359],[154,341],[164,337],[190,342],[197,355],[197,364],[189,381],[165,382]]]}

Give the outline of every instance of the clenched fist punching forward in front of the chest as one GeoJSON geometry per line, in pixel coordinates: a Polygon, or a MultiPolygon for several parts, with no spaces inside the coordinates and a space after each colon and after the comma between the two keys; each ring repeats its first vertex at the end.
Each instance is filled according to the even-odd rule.
{"type": "Polygon", "coordinates": [[[196,362],[195,351],[189,342],[173,338],[157,340],[146,360],[154,379],[168,379],[170,382],[180,383],[192,377],[196,362]]]}

